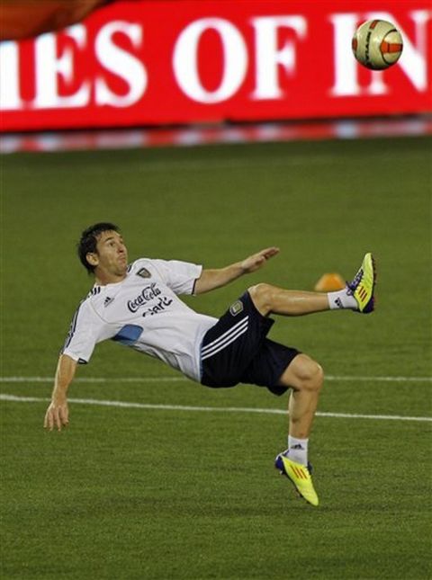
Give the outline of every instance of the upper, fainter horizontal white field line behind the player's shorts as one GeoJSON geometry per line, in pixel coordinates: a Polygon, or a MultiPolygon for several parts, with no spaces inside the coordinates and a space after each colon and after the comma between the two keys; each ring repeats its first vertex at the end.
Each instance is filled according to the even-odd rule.
{"type": "MultiPolygon", "coordinates": [[[[432,382],[432,377],[367,377],[355,375],[326,375],[326,380],[352,382],[432,382]]],[[[82,383],[154,383],[154,382],[183,382],[182,375],[172,377],[76,377],[74,382],[82,383]]],[[[54,377],[0,377],[0,383],[52,383],[54,377]]]]}

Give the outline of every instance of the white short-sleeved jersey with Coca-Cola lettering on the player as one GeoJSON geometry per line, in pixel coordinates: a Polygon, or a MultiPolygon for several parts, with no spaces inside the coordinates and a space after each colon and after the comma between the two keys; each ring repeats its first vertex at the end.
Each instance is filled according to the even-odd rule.
{"type": "Polygon", "coordinates": [[[85,363],[95,344],[112,339],[200,381],[202,337],[217,318],[197,314],[177,294],[192,294],[201,272],[194,263],[136,260],[123,281],[94,285],[76,310],[63,354],[85,363]]]}

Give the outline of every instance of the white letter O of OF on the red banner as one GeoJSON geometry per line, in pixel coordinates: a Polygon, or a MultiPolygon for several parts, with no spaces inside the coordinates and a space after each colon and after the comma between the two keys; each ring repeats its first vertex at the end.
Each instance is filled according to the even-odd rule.
{"type": "Polygon", "coordinates": [[[173,66],[175,79],[184,94],[198,103],[220,103],[238,91],[247,72],[247,48],[238,29],[221,18],[203,18],[192,22],[175,43],[173,66]],[[202,33],[212,29],[220,35],[225,67],[219,87],[207,91],[198,72],[198,45],[202,33]]]}

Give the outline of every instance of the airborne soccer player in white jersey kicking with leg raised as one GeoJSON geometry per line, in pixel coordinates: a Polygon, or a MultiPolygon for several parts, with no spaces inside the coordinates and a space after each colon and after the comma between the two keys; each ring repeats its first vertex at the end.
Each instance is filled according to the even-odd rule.
{"type": "Polygon", "coordinates": [[[306,501],[318,505],[308,440],[323,371],[307,354],[266,338],[275,322],[269,315],[293,317],[340,308],[372,312],[372,255],[365,254],[344,290],[306,292],[258,283],[217,319],[196,313],[177,296],[202,294],[256,272],[279,253],[278,248],[268,247],[217,270],[148,258],[128,264],[119,228],[98,223],[85,229],[77,249],[85,269],[94,274],[94,286],[77,308],[60,353],[44,426],[51,431],[67,425],[67,388],[76,365],[88,362],[94,346],[107,339],[157,357],[208,387],[251,383],[275,395],[291,388],[288,448],[276,457],[275,467],[306,501]]]}

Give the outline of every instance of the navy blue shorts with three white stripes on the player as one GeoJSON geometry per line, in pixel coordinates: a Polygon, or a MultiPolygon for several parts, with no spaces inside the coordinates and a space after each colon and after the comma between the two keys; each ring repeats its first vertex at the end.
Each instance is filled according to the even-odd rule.
{"type": "Polygon", "coordinates": [[[279,379],[299,351],[266,338],[274,323],[258,312],[245,292],[204,335],[202,385],[220,388],[249,383],[283,395],[287,388],[280,386],[279,379]]]}

